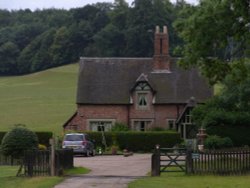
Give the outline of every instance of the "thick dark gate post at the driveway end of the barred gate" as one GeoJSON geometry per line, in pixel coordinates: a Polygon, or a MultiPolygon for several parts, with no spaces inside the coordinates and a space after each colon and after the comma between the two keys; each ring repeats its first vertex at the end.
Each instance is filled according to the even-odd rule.
{"type": "Polygon", "coordinates": [[[155,146],[155,151],[151,158],[151,176],[160,176],[160,145],[155,146]]]}

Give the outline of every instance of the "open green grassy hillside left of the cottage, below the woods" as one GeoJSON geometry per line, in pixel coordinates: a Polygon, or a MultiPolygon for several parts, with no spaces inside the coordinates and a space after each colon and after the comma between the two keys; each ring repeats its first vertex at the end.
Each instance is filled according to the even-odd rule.
{"type": "Polygon", "coordinates": [[[25,76],[0,77],[0,131],[26,124],[36,131],[62,133],[76,110],[78,64],[25,76]]]}

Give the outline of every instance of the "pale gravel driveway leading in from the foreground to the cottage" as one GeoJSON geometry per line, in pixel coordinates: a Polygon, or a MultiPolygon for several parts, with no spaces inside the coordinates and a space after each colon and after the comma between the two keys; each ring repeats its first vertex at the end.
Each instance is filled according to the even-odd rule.
{"type": "Polygon", "coordinates": [[[55,188],[125,188],[150,171],[151,154],[75,157],[74,166],[89,168],[91,172],[69,177],[55,188]]]}

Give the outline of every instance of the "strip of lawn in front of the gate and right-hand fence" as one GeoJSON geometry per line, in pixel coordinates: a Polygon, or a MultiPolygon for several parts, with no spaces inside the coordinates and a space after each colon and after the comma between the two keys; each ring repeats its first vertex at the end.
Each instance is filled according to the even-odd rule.
{"type": "Polygon", "coordinates": [[[183,173],[162,173],[133,181],[129,188],[248,188],[250,176],[187,176],[183,173]]]}

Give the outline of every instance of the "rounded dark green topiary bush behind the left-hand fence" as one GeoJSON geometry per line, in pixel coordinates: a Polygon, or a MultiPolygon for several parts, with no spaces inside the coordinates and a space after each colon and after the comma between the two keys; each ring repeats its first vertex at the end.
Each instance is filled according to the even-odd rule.
{"type": "Polygon", "coordinates": [[[37,135],[24,127],[15,127],[3,137],[1,149],[4,155],[20,158],[25,150],[37,149],[37,135]]]}

